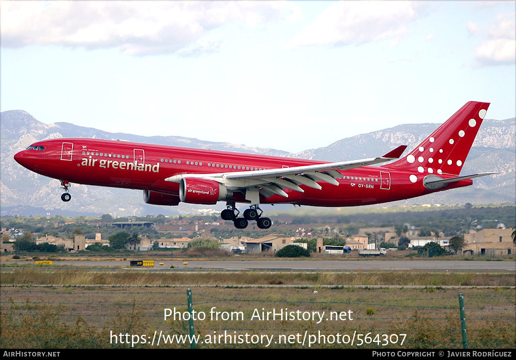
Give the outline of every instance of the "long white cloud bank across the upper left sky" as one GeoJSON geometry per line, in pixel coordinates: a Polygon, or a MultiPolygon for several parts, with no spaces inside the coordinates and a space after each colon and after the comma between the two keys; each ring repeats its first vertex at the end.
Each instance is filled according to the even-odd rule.
{"type": "Polygon", "coordinates": [[[198,41],[224,24],[254,26],[300,17],[300,9],[286,2],[3,2],[2,46],[118,47],[130,55],[184,49],[184,54],[198,54],[218,49],[213,40],[198,41]]]}

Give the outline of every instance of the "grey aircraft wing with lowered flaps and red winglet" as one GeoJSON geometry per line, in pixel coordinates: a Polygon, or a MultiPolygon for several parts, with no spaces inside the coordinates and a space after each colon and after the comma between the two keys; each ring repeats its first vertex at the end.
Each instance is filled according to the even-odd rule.
{"type": "Polygon", "coordinates": [[[304,192],[299,185],[305,185],[320,190],[321,186],[317,184],[318,181],[338,186],[336,179],[343,175],[337,170],[350,170],[397,159],[406,148],[407,145],[401,145],[383,156],[361,160],[328,162],[282,169],[234,171],[213,174],[178,174],[167,177],[165,181],[179,183],[181,179],[185,177],[212,179],[227,186],[229,189],[245,192],[246,199],[250,200],[252,204],[255,204],[259,201],[259,194],[262,194],[266,198],[275,194],[288,198],[288,194],[283,191],[285,188],[304,192]]]}

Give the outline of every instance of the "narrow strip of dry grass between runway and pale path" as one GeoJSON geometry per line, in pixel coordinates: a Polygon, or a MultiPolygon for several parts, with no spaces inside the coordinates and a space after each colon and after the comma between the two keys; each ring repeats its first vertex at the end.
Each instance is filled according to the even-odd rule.
{"type": "Polygon", "coordinates": [[[474,272],[98,272],[77,268],[19,268],[2,273],[2,284],[51,285],[420,285],[515,286],[512,273],[474,272]]]}

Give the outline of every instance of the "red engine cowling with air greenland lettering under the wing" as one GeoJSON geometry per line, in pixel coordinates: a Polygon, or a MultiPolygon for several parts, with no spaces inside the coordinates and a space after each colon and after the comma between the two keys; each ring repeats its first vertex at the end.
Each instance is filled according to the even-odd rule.
{"type": "Polygon", "coordinates": [[[232,190],[213,180],[184,177],[179,184],[179,200],[189,204],[214,205],[232,197],[232,190]]]}

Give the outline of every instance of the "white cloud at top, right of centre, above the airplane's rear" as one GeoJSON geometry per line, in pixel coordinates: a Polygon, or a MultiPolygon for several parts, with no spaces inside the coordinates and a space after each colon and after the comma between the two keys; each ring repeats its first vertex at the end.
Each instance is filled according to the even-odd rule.
{"type": "Polygon", "coordinates": [[[394,39],[407,32],[415,17],[412,2],[338,2],[290,42],[289,48],[305,45],[346,45],[394,39]]]}

